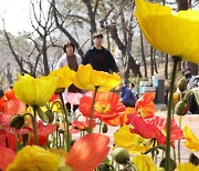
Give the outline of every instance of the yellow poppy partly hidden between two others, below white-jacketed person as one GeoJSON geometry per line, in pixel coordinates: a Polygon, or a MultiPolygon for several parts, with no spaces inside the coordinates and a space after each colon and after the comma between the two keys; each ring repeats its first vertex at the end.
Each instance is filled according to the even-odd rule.
{"type": "Polygon", "coordinates": [[[59,88],[66,89],[73,83],[72,79],[75,77],[75,71],[71,70],[69,66],[65,66],[55,71],[51,71],[49,76],[59,78],[57,89],[59,88]]]}

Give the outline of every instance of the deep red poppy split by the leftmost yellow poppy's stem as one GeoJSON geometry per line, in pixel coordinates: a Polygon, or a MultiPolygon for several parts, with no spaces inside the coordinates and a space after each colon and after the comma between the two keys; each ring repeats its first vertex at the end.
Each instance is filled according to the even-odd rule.
{"type": "MultiPolygon", "coordinates": [[[[48,143],[49,134],[53,133],[56,130],[56,125],[46,124],[44,125],[41,120],[38,121],[38,142],[40,147],[43,147],[48,143]]],[[[34,135],[30,133],[30,144],[34,144],[34,135]]]]}

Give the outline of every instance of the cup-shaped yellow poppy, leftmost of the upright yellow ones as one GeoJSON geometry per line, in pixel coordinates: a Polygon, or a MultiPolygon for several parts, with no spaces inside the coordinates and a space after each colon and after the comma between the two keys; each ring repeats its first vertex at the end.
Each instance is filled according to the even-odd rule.
{"type": "Polygon", "coordinates": [[[19,76],[13,84],[17,97],[29,105],[44,105],[53,95],[57,78],[42,77],[34,79],[29,74],[19,76]]]}

